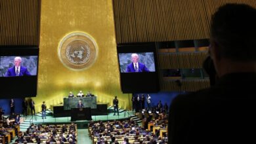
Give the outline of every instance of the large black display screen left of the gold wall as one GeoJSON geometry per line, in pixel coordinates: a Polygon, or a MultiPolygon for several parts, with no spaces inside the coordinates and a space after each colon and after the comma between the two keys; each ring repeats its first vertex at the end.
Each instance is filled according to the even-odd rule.
{"type": "Polygon", "coordinates": [[[39,48],[0,46],[0,98],[37,95],[39,48]]]}

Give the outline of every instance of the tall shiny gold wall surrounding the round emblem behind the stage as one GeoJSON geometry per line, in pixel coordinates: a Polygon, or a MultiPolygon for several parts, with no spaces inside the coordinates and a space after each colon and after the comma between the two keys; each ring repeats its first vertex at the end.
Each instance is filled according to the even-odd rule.
{"type": "Polygon", "coordinates": [[[83,90],[98,96],[97,102],[109,103],[115,95],[119,107],[129,109],[129,95],[119,84],[114,16],[111,0],[43,0],[39,45],[39,72],[36,110],[42,101],[47,107],[63,103],[64,96],[83,90]],[[83,71],[66,68],[58,58],[60,41],[73,32],[88,33],[98,45],[98,58],[83,71]]]}

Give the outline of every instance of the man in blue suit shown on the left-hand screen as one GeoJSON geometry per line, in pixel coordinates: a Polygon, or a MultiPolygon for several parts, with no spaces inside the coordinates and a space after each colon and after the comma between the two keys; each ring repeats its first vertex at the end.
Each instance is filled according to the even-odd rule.
{"type": "Polygon", "coordinates": [[[22,58],[19,56],[14,58],[14,66],[7,70],[5,77],[31,75],[27,67],[20,65],[21,62],[22,58]]]}

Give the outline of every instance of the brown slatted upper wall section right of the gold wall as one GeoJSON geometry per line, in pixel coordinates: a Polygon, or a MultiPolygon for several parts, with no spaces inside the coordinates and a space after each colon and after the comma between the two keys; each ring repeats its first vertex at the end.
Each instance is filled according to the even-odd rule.
{"type": "Polygon", "coordinates": [[[255,0],[113,0],[117,43],[208,39],[211,15],[225,3],[255,0]]]}

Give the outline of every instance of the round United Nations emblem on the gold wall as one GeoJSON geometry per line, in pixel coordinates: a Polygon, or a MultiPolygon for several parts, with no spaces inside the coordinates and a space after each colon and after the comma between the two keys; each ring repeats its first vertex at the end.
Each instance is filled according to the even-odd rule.
{"type": "Polygon", "coordinates": [[[94,39],[86,33],[70,33],[60,41],[58,57],[68,68],[87,69],[96,60],[98,48],[94,39]]]}

